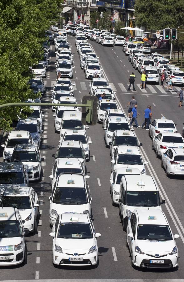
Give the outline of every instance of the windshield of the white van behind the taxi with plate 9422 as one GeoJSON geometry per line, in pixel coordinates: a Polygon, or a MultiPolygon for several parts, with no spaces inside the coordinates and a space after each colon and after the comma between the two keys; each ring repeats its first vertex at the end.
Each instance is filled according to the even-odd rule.
{"type": "Polygon", "coordinates": [[[126,191],[127,206],[159,206],[157,191],[126,191]]]}

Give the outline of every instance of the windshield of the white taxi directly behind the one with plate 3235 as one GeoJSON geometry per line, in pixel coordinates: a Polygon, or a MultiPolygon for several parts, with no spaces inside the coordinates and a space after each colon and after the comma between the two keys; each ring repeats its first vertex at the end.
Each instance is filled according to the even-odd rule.
{"type": "Polygon", "coordinates": [[[64,205],[81,205],[87,204],[88,200],[85,188],[56,187],[52,202],[64,205]]]}

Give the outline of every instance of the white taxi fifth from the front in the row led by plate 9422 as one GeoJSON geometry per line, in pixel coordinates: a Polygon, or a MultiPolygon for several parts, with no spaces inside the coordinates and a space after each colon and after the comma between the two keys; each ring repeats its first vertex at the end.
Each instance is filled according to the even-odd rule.
{"type": "Polygon", "coordinates": [[[112,134],[110,145],[110,156],[112,157],[112,154],[117,146],[121,145],[127,145],[127,146],[136,146],[141,147],[142,143],[138,142],[137,137],[132,132],[133,130],[115,130],[112,134]]]}

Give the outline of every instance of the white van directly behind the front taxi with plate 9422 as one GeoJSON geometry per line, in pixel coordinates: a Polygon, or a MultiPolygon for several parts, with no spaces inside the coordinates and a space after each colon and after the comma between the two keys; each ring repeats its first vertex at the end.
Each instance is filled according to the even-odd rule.
{"type": "Polygon", "coordinates": [[[138,207],[141,209],[161,209],[160,196],[155,179],[150,175],[124,175],[120,182],[119,215],[123,230],[126,231],[128,218],[138,207]]]}

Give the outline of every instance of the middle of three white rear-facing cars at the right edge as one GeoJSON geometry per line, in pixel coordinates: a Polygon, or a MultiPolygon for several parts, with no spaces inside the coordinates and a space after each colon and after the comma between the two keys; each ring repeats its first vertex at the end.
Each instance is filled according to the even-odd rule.
{"type": "Polygon", "coordinates": [[[169,148],[184,149],[184,141],[180,133],[158,133],[153,138],[152,149],[156,151],[157,158],[169,148]]]}

